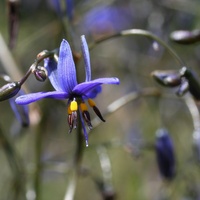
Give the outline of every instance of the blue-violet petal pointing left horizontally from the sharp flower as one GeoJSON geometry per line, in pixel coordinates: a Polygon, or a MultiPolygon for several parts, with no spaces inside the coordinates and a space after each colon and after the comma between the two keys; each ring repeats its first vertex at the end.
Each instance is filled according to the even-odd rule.
{"type": "Polygon", "coordinates": [[[37,92],[26,94],[18,97],[15,102],[19,105],[29,104],[38,101],[43,98],[53,98],[53,99],[67,99],[69,94],[66,92],[52,91],[52,92],[37,92]]]}

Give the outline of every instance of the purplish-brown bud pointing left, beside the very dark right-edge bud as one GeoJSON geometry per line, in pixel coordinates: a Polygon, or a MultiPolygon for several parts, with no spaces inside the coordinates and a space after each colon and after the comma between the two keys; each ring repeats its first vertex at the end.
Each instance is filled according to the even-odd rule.
{"type": "Polygon", "coordinates": [[[181,84],[181,75],[175,70],[156,70],[151,73],[153,78],[163,86],[176,87],[181,84]]]}

